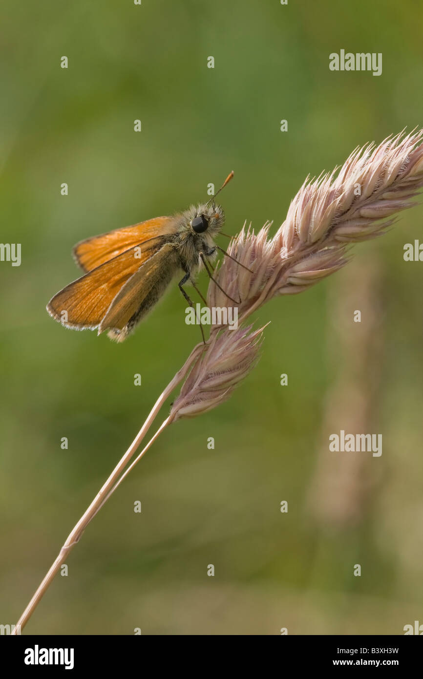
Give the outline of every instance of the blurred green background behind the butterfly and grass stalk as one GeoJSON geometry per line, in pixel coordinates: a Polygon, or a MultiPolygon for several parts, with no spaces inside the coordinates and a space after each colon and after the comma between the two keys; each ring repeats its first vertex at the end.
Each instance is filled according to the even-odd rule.
{"type": "MultiPolygon", "coordinates": [[[[54,0],[2,10],[1,241],[22,243],[20,267],[0,263],[5,624],[199,341],[176,285],[122,345],[60,327],[45,304],[79,275],[73,244],[184,209],[232,169],[225,230],[267,219],[276,230],[308,173],[422,126],[423,8],[54,0]],[[342,48],[382,52],[382,75],[329,71],[342,48]]],[[[403,261],[422,223],[422,207],[403,213],[342,272],[261,308],[257,323],[271,324],[259,365],[230,401],[158,439],[28,633],[403,634],[423,622],[423,270],[403,261]],[[380,458],[329,456],[329,433],[356,417],[358,432],[382,433],[380,458]]]]}

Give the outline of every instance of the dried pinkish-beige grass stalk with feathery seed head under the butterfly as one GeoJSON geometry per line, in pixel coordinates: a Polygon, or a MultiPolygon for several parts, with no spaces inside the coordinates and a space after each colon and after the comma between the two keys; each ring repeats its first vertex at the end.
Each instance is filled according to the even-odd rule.
{"type": "MultiPolygon", "coordinates": [[[[329,276],[348,261],[348,244],[383,234],[394,213],[413,205],[423,185],[423,131],[392,136],[378,147],[355,149],[339,171],[306,179],[291,202],[282,226],[268,238],[271,223],[257,235],[242,228],[229,245],[229,257],[217,271],[217,282],[233,299],[241,299],[239,320],[246,320],[265,301],[277,295],[299,293],[329,276]],[[250,271],[246,270],[246,268],[250,271]]],[[[210,281],[208,305],[234,303],[210,281]]],[[[257,362],[263,328],[237,331],[212,327],[204,346],[198,344],[181,370],[160,395],[128,451],[69,534],[58,557],[39,585],[17,623],[14,634],[31,617],[43,593],[77,543],[86,526],[117,486],[147,452],[162,430],[183,417],[194,417],[229,398],[234,387],[257,362]],[[139,456],[129,464],[166,398],[185,380],[170,415],[139,456]]]]}

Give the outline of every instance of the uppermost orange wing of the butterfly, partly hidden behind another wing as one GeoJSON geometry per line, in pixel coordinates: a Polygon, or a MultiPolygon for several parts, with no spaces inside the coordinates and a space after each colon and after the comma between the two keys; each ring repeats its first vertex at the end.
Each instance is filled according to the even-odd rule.
{"type": "Polygon", "coordinates": [[[171,233],[174,233],[172,217],[155,217],[81,240],[73,248],[73,257],[81,269],[88,272],[140,243],[150,240],[153,245],[152,239],[158,240],[160,236],[171,233]]]}

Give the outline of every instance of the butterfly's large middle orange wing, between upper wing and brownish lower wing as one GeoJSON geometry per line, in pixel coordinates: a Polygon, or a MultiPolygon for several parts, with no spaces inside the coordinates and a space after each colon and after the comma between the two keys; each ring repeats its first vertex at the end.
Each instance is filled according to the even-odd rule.
{"type": "Polygon", "coordinates": [[[146,240],[100,264],[54,295],[48,312],[67,327],[95,329],[125,283],[171,238],[164,235],[146,240]]]}

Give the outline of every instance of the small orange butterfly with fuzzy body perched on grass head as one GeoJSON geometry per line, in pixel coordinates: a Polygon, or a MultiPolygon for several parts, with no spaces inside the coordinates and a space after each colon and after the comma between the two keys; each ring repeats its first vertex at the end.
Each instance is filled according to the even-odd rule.
{"type": "MultiPolygon", "coordinates": [[[[219,191],[233,176],[231,172],[219,191]]],[[[50,316],[67,328],[98,330],[98,335],[107,331],[111,339],[123,342],[178,272],[183,273],[179,289],[194,306],[183,286],[191,282],[198,291],[194,276],[202,264],[215,280],[208,262],[217,249],[225,253],[214,242],[225,221],[214,198],[171,217],[155,217],[81,240],[73,256],[84,276],[50,299],[50,316]]]]}

